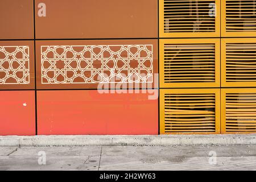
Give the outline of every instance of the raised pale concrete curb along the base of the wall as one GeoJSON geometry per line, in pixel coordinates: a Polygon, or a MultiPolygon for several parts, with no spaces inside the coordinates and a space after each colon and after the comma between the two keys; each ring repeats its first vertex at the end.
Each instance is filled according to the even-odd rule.
{"type": "Polygon", "coordinates": [[[256,144],[247,135],[37,135],[0,136],[0,146],[174,146],[256,144]]]}

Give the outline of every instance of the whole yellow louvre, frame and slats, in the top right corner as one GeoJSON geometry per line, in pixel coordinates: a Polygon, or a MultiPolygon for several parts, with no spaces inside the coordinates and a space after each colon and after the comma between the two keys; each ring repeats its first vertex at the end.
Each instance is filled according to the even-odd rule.
{"type": "Polygon", "coordinates": [[[256,36],[256,1],[223,0],[222,36],[256,36]]]}

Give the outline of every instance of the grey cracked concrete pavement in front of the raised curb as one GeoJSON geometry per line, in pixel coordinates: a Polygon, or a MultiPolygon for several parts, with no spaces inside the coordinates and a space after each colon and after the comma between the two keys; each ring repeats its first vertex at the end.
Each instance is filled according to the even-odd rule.
{"type": "Polygon", "coordinates": [[[0,170],[211,169],[255,170],[256,145],[0,147],[0,170]]]}

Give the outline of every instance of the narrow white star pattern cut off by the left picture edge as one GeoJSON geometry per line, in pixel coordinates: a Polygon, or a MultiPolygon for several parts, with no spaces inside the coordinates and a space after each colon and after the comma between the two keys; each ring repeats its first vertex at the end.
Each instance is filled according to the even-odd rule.
{"type": "Polygon", "coordinates": [[[0,84],[30,84],[28,46],[0,46],[0,84]]]}

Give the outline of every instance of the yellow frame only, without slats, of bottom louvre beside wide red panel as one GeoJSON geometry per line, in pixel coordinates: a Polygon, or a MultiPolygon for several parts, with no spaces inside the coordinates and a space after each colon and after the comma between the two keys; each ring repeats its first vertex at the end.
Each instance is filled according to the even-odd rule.
{"type": "Polygon", "coordinates": [[[215,94],[215,132],[178,132],[171,134],[220,134],[220,89],[160,89],[160,134],[170,134],[164,131],[164,94],[171,93],[214,93],[215,94]]]}

